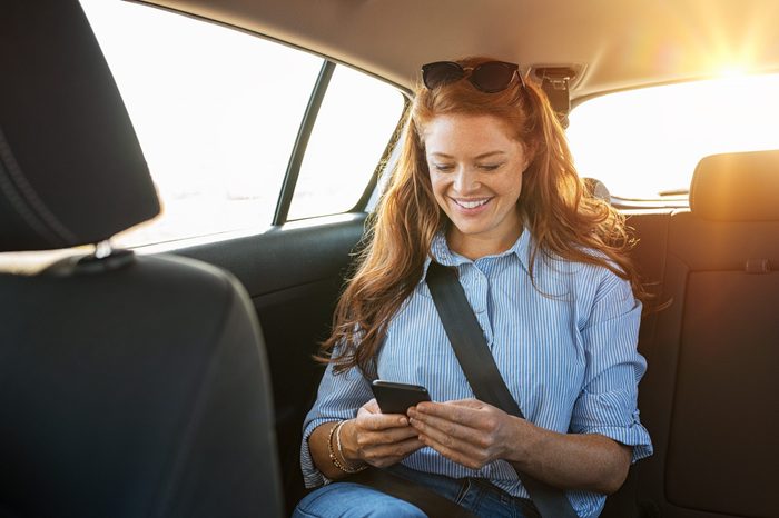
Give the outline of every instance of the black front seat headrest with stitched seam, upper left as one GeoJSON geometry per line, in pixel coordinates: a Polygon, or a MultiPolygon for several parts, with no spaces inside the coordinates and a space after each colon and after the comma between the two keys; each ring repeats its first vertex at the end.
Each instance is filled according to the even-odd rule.
{"type": "Polygon", "coordinates": [[[77,0],[4,0],[0,251],[105,240],[159,212],[130,119],[77,0]]]}

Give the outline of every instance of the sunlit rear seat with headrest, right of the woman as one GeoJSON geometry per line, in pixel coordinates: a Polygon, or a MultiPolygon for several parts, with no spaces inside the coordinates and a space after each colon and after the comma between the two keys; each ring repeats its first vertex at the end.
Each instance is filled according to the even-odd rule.
{"type": "Polygon", "coordinates": [[[639,389],[654,455],[639,499],[665,518],[777,517],[779,150],[704,157],[671,215],[639,389]]]}

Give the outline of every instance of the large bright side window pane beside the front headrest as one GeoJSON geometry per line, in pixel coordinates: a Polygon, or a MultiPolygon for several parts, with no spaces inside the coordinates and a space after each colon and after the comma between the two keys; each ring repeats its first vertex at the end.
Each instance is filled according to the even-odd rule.
{"type": "Polygon", "coordinates": [[[323,60],[146,6],[81,4],[162,202],[119,245],[269,225],[323,60]]]}

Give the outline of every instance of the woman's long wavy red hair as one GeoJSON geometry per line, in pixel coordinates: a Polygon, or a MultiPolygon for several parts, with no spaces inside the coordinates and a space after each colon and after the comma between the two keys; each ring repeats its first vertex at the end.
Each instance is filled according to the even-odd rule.
{"type": "MultiPolygon", "coordinates": [[[[485,61],[492,59],[457,62],[469,68],[485,61]]],[[[359,367],[366,376],[375,376],[387,325],[420,282],[434,236],[450,223],[433,196],[423,136],[433,118],[453,113],[489,114],[507,122],[531,153],[517,201],[521,220],[533,237],[531,278],[541,253],[608,268],[630,281],[638,300],[649,297],[627,257],[634,240],[624,218],[585,188],[563,129],[538,87],[515,80],[506,90],[484,93],[467,80],[433,90],[417,84],[400,159],[369,220],[356,269],[335,310],[332,335],[322,343],[319,359],[333,362],[335,372],[359,367]]]]}

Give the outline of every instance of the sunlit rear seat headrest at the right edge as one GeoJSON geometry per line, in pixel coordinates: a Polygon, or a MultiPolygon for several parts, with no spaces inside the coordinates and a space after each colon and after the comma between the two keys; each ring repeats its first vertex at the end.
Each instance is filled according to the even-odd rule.
{"type": "Polygon", "coordinates": [[[779,150],[704,157],[692,177],[690,209],[714,221],[779,221],[779,150]]]}

